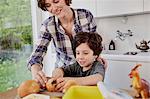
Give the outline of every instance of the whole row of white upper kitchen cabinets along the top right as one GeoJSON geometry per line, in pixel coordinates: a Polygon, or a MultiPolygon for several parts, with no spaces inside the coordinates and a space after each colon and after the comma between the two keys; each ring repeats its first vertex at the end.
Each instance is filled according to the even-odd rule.
{"type": "MultiPolygon", "coordinates": [[[[113,17],[150,13],[150,0],[73,0],[72,8],[85,8],[94,17],[113,17]]],[[[48,13],[44,12],[45,18],[48,13]]],[[[44,19],[42,18],[42,19],[44,19]]]]}

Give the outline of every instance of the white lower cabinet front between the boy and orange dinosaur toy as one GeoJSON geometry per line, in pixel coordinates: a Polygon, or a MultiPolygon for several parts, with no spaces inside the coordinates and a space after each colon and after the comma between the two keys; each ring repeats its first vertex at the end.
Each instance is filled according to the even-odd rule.
{"type": "Polygon", "coordinates": [[[104,82],[108,87],[130,89],[131,79],[128,76],[136,62],[108,60],[104,82]]]}

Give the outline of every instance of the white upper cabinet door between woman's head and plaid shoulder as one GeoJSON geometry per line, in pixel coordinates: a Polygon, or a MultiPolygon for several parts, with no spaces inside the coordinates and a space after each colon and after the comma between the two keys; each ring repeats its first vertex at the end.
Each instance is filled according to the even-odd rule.
{"type": "Polygon", "coordinates": [[[72,0],[71,7],[87,9],[96,17],[96,0],[72,0]]]}

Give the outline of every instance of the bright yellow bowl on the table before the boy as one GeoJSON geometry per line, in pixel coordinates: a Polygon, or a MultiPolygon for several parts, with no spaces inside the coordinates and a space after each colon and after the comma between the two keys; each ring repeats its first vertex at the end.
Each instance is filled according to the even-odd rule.
{"type": "Polygon", "coordinates": [[[72,86],[63,99],[104,99],[97,86],[72,86]]]}

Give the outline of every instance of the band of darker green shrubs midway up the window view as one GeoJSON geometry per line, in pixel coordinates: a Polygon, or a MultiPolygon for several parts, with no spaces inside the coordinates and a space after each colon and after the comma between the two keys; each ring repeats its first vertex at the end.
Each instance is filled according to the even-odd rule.
{"type": "Polygon", "coordinates": [[[2,49],[21,49],[24,44],[32,45],[31,25],[1,30],[0,45],[2,49]]]}

